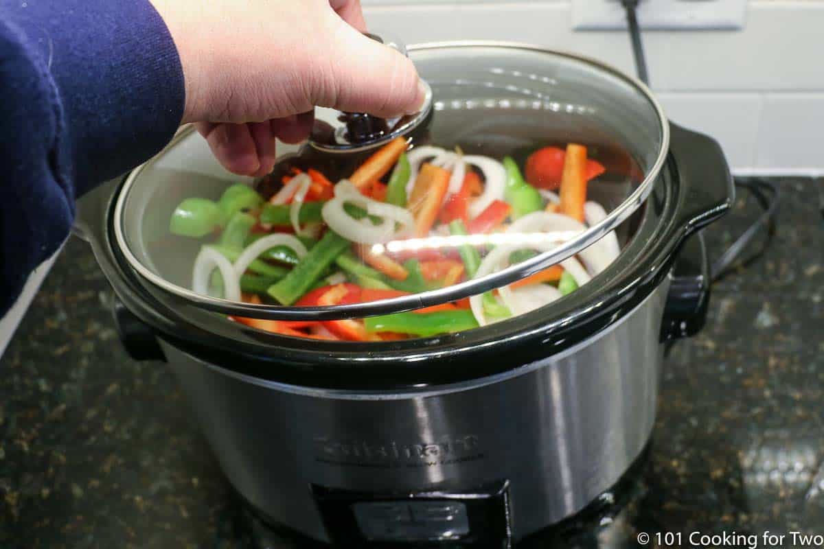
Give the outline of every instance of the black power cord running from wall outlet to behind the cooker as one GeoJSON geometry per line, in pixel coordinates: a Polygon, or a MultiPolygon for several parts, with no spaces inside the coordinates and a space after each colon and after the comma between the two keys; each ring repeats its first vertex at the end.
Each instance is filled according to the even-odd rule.
{"type": "MultiPolygon", "coordinates": [[[[630,30],[632,52],[639,80],[648,85],[649,74],[647,71],[647,60],[644,56],[644,43],[641,41],[641,29],[638,24],[637,12],[639,0],[620,0],[620,2],[626,11],[626,22],[630,30]]],[[[747,227],[747,230],[745,230],[733,244],[730,244],[728,249],[724,250],[721,257],[715,260],[710,268],[712,281],[719,281],[737,269],[747,267],[758,258],[761,258],[775,235],[775,214],[778,212],[781,198],[780,185],[773,181],[760,178],[736,179],[735,185],[737,188],[747,189],[747,191],[756,198],[756,201],[761,209],[764,210],[764,213],[762,213],[756,221],[753,221],[751,225],[747,227]],[[742,254],[751,248],[752,242],[756,240],[756,237],[761,234],[762,230],[765,230],[766,238],[761,244],[761,247],[749,256],[742,257],[742,254]]],[[[824,197],[822,197],[822,201],[824,201],[824,197]]],[[[822,210],[824,210],[824,204],[822,204],[822,210]]]]}

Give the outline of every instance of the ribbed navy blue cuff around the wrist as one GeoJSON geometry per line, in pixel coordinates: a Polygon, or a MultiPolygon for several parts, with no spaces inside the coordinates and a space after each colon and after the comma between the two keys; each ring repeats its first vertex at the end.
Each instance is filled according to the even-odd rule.
{"type": "MultiPolygon", "coordinates": [[[[6,0],[2,0],[6,2],[6,0]]],[[[7,7],[49,67],[72,151],[75,196],[157,153],[183,117],[183,68],[148,0],[7,7]]]]}

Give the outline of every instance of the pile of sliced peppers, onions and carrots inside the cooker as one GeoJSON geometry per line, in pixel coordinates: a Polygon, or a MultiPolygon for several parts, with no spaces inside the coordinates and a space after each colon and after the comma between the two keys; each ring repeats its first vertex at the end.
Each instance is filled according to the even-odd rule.
{"type": "MultiPolygon", "coordinates": [[[[318,170],[293,169],[269,200],[235,184],[217,202],[180,202],[171,232],[213,239],[194,261],[194,291],[299,307],[385,300],[483,277],[559,244],[531,235],[582,231],[606,216],[599,204],[587,202],[588,181],[604,168],[581,145],[535,151],[526,177],[511,157],[407,148],[399,137],[337,184],[318,170]],[[456,245],[444,247],[445,237],[456,245]]],[[[410,313],[323,322],[234,320],[288,336],[344,341],[460,332],[569,294],[618,254],[610,234],[577,257],[497,291],[410,313]]]]}

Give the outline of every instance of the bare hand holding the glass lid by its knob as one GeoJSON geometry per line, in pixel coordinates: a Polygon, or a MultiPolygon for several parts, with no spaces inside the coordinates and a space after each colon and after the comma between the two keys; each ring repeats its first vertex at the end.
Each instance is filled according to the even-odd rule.
{"type": "Polygon", "coordinates": [[[362,34],[359,0],[152,3],[183,64],[183,123],[236,174],[268,174],[275,137],[306,138],[316,105],[391,118],[424,103],[412,62],[362,34]]]}

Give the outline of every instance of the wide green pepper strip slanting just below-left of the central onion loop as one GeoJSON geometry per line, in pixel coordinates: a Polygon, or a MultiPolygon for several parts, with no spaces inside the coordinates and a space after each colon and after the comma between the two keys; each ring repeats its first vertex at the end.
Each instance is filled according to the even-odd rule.
{"type": "Polygon", "coordinates": [[[269,287],[269,295],[281,305],[292,305],[323,276],[325,270],[351,243],[334,230],[327,230],[323,238],[303,256],[300,263],[283,278],[269,287]]]}

